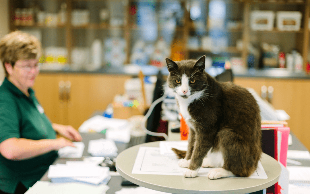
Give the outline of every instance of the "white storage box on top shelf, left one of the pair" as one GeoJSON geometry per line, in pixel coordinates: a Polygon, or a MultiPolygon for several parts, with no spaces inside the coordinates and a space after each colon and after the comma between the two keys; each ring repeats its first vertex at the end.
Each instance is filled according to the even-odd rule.
{"type": "Polygon", "coordinates": [[[273,30],[275,13],[273,11],[251,11],[252,30],[273,30]]]}

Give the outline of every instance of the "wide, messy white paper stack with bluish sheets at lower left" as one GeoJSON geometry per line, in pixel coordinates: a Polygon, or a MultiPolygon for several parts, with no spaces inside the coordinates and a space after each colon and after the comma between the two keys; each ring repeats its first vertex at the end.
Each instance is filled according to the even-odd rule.
{"type": "Polygon", "coordinates": [[[47,177],[55,183],[79,182],[107,184],[111,176],[109,167],[98,165],[98,161],[67,161],[66,164],[50,165],[47,177]]]}

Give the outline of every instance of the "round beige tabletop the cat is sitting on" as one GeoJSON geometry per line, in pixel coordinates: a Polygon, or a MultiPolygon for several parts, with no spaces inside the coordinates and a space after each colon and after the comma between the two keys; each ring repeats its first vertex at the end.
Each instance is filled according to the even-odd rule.
{"type": "Polygon", "coordinates": [[[253,178],[219,178],[210,180],[208,177],[197,176],[185,178],[176,175],[132,174],[139,147],[159,147],[159,142],[149,142],[130,147],[122,151],[116,159],[117,172],[127,180],[149,189],[176,194],[244,194],[256,192],[278,182],[281,166],[271,156],[262,155],[261,163],[268,179],[253,178]]]}

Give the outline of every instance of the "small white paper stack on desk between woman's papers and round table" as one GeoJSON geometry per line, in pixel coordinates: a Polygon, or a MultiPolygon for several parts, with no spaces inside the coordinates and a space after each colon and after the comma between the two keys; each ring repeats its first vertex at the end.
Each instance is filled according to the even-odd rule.
{"type": "Polygon", "coordinates": [[[91,156],[116,157],[117,151],[116,144],[111,139],[90,140],[88,144],[88,153],[91,156]]]}

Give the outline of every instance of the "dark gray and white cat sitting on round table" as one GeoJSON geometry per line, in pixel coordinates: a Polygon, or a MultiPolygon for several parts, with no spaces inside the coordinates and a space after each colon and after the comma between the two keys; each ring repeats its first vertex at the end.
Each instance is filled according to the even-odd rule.
{"type": "Polygon", "coordinates": [[[173,149],[184,177],[213,167],[208,177],[250,176],[261,157],[259,106],[245,89],[219,82],[205,71],[206,57],[174,62],[166,58],[167,83],[188,124],[188,151],[173,149]],[[184,158],[185,157],[185,158],[184,158]]]}

